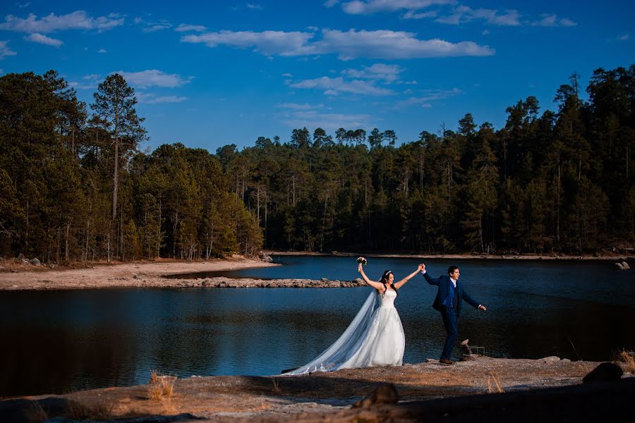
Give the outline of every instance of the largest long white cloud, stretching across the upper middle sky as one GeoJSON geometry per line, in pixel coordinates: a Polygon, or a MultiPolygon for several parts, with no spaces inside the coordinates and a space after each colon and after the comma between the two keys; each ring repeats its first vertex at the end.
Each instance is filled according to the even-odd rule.
{"type": "Polygon", "coordinates": [[[494,50],[475,42],[447,42],[442,39],[417,39],[413,32],[390,30],[322,30],[322,39],[315,42],[309,32],[208,32],[186,35],[182,42],[203,43],[208,47],[226,45],[251,48],[267,56],[315,56],[337,54],[341,60],[358,57],[369,59],[415,59],[445,56],[490,56],[494,50]]]}

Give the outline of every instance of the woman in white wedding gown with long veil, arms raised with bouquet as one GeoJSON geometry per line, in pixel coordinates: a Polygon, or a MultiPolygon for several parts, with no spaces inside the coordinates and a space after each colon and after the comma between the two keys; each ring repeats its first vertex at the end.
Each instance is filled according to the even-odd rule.
{"type": "MultiPolygon", "coordinates": [[[[361,260],[365,261],[363,257],[361,260]]],[[[419,264],[416,271],[394,283],[392,271],[385,271],[379,282],[371,281],[360,263],[357,271],[365,283],[375,288],[368,295],[346,331],[337,341],[315,360],[286,375],[309,372],[330,372],[339,369],[373,366],[401,366],[404,360],[406,338],[404,328],[394,299],[397,290],[423,269],[419,264]]]]}

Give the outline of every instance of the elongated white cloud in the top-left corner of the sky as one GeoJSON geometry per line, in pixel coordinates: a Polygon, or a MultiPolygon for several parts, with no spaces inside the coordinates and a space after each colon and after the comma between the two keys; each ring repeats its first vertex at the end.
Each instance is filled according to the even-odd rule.
{"type": "Polygon", "coordinates": [[[16,32],[39,32],[40,34],[48,34],[55,31],[64,30],[111,30],[112,28],[123,25],[123,19],[119,15],[111,13],[109,16],[99,16],[99,18],[91,18],[87,16],[85,11],[74,11],[68,15],[56,16],[51,13],[42,19],[37,19],[33,13],[25,19],[8,15],[4,18],[4,23],[0,23],[0,30],[16,31],[16,32]]]}

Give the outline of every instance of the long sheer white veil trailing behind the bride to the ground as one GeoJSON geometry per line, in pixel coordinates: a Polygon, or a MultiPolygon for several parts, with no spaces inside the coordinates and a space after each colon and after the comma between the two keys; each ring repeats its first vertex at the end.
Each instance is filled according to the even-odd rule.
{"type": "Polygon", "coordinates": [[[359,312],[355,316],[355,319],[351,321],[346,331],[327,348],[322,354],[318,355],[313,361],[308,364],[299,367],[298,369],[291,370],[291,372],[283,373],[285,375],[292,374],[305,374],[309,372],[329,372],[330,370],[336,370],[344,364],[353,353],[359,348],[359,343],[363,338],[363,334],[368,330],[370,324],[370,317],[373,316],[373,312],[379,306],[377,301],[377,291],[373,289],[373,292],[368,295],[366,301],[362,305],[359,312]]]}

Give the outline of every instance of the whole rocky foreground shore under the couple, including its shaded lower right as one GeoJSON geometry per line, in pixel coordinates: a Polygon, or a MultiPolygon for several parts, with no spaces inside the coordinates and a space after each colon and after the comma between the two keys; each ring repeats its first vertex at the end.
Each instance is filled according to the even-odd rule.
{"type": "Polygon", "coordinates": [[[611,364],[619,374],[583,384],[598,364],[475,357],[452,366],[426,360],[303,376],[191,376],[159,396],[148,384],[0,400],[0,421],[536,422],[555,413],[578,422],[593,421],[598,410],[600,417],[630,415],[635,377],[622,374],[624,363],[611,364]]]}

